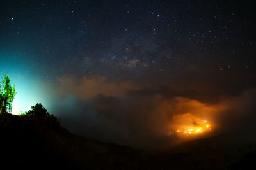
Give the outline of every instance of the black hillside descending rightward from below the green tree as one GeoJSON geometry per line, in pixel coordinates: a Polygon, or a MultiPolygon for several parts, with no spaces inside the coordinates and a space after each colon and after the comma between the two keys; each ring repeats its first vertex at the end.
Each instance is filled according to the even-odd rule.
{"type": "Polygon", "coordinates": [[[71,134],[45,118],[0,116],[0,169],[136,169],[141,152],[71,134]]]}

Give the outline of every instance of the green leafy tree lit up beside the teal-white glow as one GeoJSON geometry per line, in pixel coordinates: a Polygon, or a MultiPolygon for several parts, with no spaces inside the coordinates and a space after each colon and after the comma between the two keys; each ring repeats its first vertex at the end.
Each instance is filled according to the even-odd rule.
{"type": "Polygon", "coordinates": [[[11,85],[11,80],[8,76],[4,76],[0,82],[0,113],[7,113],[6,110],[12,110],[12,102],[17,94],[15,87],[11,85]]]}

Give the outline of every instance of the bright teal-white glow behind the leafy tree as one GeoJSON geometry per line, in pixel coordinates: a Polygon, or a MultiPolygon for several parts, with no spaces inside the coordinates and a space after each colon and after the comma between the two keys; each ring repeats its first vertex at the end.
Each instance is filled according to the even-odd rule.
{"type": "Polygon", "coordinates": [[[31,106],[36,103],[49,105],[48,92],[45,90],[40,76],[29,70],[26,65],[17,64],[17,61],[15,64],[10,61],[0,63],[0,77],[7,74],[17,91],[12,103],[12,114],[15,115],[31,110],[31,106]]]}

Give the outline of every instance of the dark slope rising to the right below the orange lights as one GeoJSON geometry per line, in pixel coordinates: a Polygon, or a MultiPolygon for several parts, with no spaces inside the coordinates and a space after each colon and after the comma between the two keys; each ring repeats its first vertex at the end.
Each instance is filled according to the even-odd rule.
{"type": "Polygon", "coordinates": [[[229,132],[154,153],[147,162],[159,169],[256,169],[256,143],[252,141],[229,132]]]}

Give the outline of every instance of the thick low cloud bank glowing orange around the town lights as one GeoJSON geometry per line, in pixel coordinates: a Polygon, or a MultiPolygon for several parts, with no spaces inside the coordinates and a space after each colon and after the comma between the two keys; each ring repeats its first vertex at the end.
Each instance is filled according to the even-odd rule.
{"type": "MultiPolygon", "coordinates": [[[[72,81],[67,76],[60,78],[68,87],[60,83],[62,96],[53,110],[72,132],[101,141],[143,149],[168,148],[192,139],[173,134],[177,127],[209,120],[211,135],[233,131],[237,125],[245,125],[255,111],[254,89],[209,103],[189,98],[185,92],[184,96],[179,92],[168,96],[163,95],[163,88],[160,88],[162,91],[152,87],[132,90],[138,86],[124,88],[122,83],[118,86],[115,82],[106,82],[99,74],[90,76],[81,80],[71,78],[72,81]],[[76,83],[70,83],[73,80],[76,83]],[[108,91],[109,86],[115,91],[108,91]]],[[[204,135],[199,136],[202,137],[204,135]]]]}

